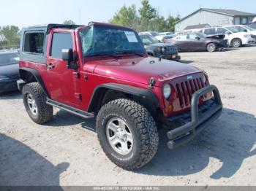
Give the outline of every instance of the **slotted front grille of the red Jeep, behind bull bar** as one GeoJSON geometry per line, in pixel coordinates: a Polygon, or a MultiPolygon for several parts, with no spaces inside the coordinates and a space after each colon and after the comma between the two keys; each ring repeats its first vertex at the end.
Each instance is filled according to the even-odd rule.
{"type": "Polygon", "coordinates": [[[181,108],[189,106],[191,104],[192,95],[197,91],[205,87],[201,78],[190,79],[186,82],[176,84],[178,93],[178,99],[181,108]]]}

